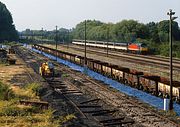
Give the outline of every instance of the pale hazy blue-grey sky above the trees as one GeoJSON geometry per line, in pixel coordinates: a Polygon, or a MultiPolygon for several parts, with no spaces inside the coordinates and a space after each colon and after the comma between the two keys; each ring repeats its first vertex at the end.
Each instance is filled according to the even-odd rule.
{"type": "Polygon", "coordinates": [[[0,0],[11,12],[16,29],[54,30],[73,28],[86,19],[140,23],[169,19],[172,9],[180,26],[180,0],[0,0]]]}

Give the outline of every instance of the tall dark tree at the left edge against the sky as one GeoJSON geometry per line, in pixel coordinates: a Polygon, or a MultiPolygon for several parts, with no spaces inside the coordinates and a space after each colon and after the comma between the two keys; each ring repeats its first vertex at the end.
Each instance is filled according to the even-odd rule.
{"type": "Polygon", "coordinates": [[[11,13],[5,4],[0,2],[0,41],[18,40],[18,33],[13,24],[11,13]]]}

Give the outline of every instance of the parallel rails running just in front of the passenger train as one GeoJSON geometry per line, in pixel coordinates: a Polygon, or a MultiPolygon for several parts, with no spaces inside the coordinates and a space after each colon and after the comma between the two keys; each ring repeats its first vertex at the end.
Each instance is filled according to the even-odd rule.
{"type": "MultiPolygon", "coordinates": [[[[67,47],[67,46],[63,46],[63,47],[67,47]]],[[[72,46],[69,46],[69,48],[84,52],[84,48],[82,48],[81,46],[72,45],[72,46]]],[[[93,53],[93,54],[98,54],[101,56],[107,56],[106,51],[100,50],[99,48],[95,48],[95,49],[87,48],[87,53],[93,53]],[[95,49],[98,49],[98,51],[95,49]]],[[[137,54],[131,54],[131,53],[120,53],[120,52],[111,51],[111,50],[109,50],[108,57],[114,58],[114,59],[121,58],[121,60],[125,60],[127,62],[133,62],[133,63],[138,63],[141,65],[145,64],[145,65],[160,67],[163,69],[169,69],[169,60],[162,58],[162,57],[137,55],[137,54]]],[[[177,60],[177,59],[173,60],[173,68],[174,68],[174,70],[178,70],[178,71],[180,70],[180,61],[179,60],[177,60]]]]}

